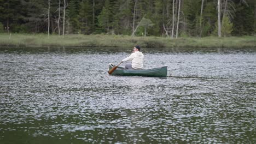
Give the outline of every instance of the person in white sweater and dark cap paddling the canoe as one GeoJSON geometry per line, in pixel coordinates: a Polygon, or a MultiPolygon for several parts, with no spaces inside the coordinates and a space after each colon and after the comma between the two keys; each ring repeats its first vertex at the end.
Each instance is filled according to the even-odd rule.
{"type": "Polygon", "coordinates": [[[144,55],[141,52],[141,47],[136,45],[133,48],[132,54],[129,57],[126,57],[121,62],[131,61],[125,65],[125,69],[142,69],[143,68],[143,59],[144,55]]]}

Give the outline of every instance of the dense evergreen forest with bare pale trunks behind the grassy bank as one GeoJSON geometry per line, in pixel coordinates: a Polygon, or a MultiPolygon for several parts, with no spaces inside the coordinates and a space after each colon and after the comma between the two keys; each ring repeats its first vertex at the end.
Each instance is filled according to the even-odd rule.
{"type": "Polygon", "coordinates": [[[0,0],[0,33],[255,35],[255,0],[0,0]]]}

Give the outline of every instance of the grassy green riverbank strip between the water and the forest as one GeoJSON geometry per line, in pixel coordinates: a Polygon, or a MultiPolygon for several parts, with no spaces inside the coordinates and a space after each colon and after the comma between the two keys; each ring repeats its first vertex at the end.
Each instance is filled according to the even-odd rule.
{"type": "Polygon", "coordinates": [[[0,46],[83,46],[83,47],[256,47],[256,37],[162,38],[129,35],[0,34],[0,46]]]}

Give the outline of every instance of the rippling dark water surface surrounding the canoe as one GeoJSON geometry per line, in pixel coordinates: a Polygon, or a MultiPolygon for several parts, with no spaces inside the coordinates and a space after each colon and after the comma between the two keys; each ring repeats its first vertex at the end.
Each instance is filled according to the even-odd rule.
{"type": "Polygon", "coordinates": [[[0,143],[256,142],[256,48],[144,49],[167,78],[109,76],[130,52],[1,47],[0,143]]]}

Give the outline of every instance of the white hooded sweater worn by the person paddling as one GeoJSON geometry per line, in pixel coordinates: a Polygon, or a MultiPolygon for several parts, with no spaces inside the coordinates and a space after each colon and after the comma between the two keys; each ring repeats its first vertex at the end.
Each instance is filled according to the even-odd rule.
{"type": "Polygon", "coordinates": [[[132,61],[133,69],[142,69],[144,55],[140,51],[133,52],[129,57],[126,57],[122,62],[132,61]]]}

